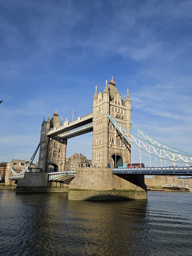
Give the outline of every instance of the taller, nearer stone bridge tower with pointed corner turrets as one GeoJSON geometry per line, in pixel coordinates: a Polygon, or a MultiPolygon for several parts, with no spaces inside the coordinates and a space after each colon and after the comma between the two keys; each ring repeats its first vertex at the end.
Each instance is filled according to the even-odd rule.
{"type": "Polygon", "coordinates": [[[97,93],[93,98],[93,166],[117,167],[131,163],[131,145],[123,143],[107,117],[109,113],[119,124],[131,131],[131,100],[127,90],[126,100],[122,100],[115,81],[112,79],[104,92],[97,93]]]}

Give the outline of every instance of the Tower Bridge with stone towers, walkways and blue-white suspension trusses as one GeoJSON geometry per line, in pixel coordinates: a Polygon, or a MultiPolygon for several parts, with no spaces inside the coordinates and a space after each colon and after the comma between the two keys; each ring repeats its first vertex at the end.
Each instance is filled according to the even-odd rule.
{"type": "MultiPolygon", "coordinates": [[[[106,80],[103,93],[101,91],[98,93],[96,86],[93,112],[71,122],[66,118],[63,125],[57,111],[53,113],[51,119],[48,115],[47,121],[44,117],[38,166],[42,169],[42,174],[37,174],[35,177],[39,175],[41,179],[47,179],[49,187],[51,182],[65,183],[70,180],[69,199],[73,200],[146,199],[144,175],[191,176],[192,167],[188,167],[189,164],[192,164],[191,154],[163,144],[144,133],[131,121],[129,90],[126,99],[123,100],[112,77],[109,84],[106,80]],[[138,136],[131,132],[131,126],[136,129],[138,136]],[[77,168],[73,173],[66,172],[67,140],[88,132],[93,132],[92,167],[77,168]],[[150,166],[152,156],[160,159],[160,169],[148,168],[148,162],[147,168],[132,168],[132,146],[139,148],[140,165],[141,151],[144,151],[150,159],[150,166]],[[163,168],[162,161],[172,162],[173,168],[176,168],[177,162],[187,167],[163,168]],[[49,165],[54,166],[54,173],[48,173],[49,165]],[[126,168],[128,165],[131,168],[126,168]]],[[[27,172],[28,167],[21,172],[21,175],[24,173],[26,175],[18,182],[17,187],[20,192],[29,185],[29,182],[26,185],[26,180],[27,176],[31,176],[27,172]]],[[[14,176],[16,177],[16,174],[14,176]]],[[[12,177],[12,180],[14,179],[16,178],[12,177]]],[[[30,182],[35,186],[35,182],[32,180],[30,182]]],[[[42,183],[45,183],[45,180],[42,180],[42,183]]]]}

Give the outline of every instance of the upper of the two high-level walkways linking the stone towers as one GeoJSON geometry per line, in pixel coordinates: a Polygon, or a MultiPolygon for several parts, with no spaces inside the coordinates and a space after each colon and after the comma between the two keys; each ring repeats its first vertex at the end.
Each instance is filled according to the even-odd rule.
{"type": "MultiPolygon", "coordinates": [[[[64,125],[54,127],[52,130],[48,131],[47,136],[53,137],[53,136],[56,136],[56,135],[59,135],[59,134],[62,134],[62,133],[66,133],[68,131],[71,131],[73,129],[76,129],[78,127],[81,127],[83,125],[86,125],[86,124],[89,124],[89,123],[92,123],[92,122],[93,122],[93,112],[89,113],[85,116],[78,117],[77,119],[69,122],[67,125],[65,125],[65,123],[64,123],[64,125]]],[[[91,132],[91,130],[89,130],[87,132],[91,132]]],[[[84,133],[86,133],[86,132],[84,132],[84,133]]],[[[78,135],[80,135],[80,134],[78,134],[78,135]]]]}

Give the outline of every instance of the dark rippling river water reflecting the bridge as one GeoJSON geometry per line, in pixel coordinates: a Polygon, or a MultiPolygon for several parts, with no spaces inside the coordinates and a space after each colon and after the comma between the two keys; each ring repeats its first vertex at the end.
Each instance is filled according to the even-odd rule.
{"type": "Polygon", "coordinates": [[[191,256],[192,193],[70,201],[67,193],[0,190],[0,255],[191,256]]]}

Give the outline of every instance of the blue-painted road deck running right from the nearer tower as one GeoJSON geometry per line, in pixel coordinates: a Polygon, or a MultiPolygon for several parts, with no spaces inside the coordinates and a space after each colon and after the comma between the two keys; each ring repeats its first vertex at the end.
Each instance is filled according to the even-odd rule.
{"type": "Polygon", "coordinates": [[[113,174],[192,176],[192,167],[113,168],[113,174]]]}

